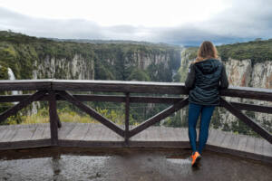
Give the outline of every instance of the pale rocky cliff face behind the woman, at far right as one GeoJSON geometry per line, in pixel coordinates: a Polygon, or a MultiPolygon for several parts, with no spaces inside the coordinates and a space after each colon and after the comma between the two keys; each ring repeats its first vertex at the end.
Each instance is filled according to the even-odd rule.
{"type": "MultiPolygon", "coordinates": [[[[190,62],[193,62],[190,56],[190,52],[184,51],[181,55],[181,67],[180,67],[180,81],[185,81],[190,62]],[[182,72],[181,72],[182,71],[182,72]]],[[[252,62],[247,60],[235,60],[228,57],[228,61],[225,61],[226,71],[228,74],[229,84],[232,86],[245,86],[254,88],[272,88],[272,60],[265,62],[252,62]]],[[[226,98],[227,100],[244,102],[256,105],[271,106],[272,102],[249,100],[239,98],[226,98]]],[[[257,122],[264,128],[271,131],[272,129],[272,115],[266,113],[249,112],[244,111],[249,117],[256,119],[257,122]]],[[[180,117],[183,122],[187,121],[186,114],[180,113],[180,117]]],[[[211,121],[211,125],[216,129],[224,129],[230,131],[247,132],[243,129],[250,129],[249,127],[242,125],[236,117],[223,108],[217,108],[211,121]],[[243,128],[242,128],[243,127],[243,128]]]]}

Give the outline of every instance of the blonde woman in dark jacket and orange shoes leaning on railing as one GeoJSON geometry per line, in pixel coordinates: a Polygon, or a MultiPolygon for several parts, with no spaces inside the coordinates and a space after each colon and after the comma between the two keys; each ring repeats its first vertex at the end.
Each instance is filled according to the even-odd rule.
{"type": "Polygon", "coordinates": [[[189,143],[192,148],[192,166],[197,166],[209,135],[209,122],[219,105],[219,90],[228,88],[225,66],[218,60],[217,49],[209,41],[199,47],[198,57],[189,66],[185,81],[189,90],[189,143]],[[196,126],[200,117],[199,145],[197,148],[196,126]]]}

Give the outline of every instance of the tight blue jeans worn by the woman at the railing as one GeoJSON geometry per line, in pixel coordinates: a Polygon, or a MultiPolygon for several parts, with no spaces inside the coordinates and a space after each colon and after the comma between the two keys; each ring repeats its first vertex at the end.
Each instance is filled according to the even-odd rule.
{"type": "Polygon", "coordinates": [[[203,106],[199,104],[189,103],[189,116],[188,116],[188,132],[189,132],[189,144],[192,151],[198,151],[199,154],[202,153],[203,148],[206,145],[209,136],[209,122],[213,113],[215,106],[203,106]],[[197,122],[200,118],[200,129],[199,129],[199,148],[197,148],[196,138],[197,138],[197,122]]]}

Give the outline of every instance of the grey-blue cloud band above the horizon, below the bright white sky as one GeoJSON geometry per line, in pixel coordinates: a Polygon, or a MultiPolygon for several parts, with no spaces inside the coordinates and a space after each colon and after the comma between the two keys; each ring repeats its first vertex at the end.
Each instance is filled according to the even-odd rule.
{"type": "Polygon", "coordinates": [[[174,27],[120,24],[102,26],[83,19],[46,19],[17,14],[0,7],[0,29],[11,29],[38,37],[67,39],[115,39],[199,45],[204,40],[236,43],[271,38],[272,4],[269,0],[232,1],[231,6],[204,22],[174,27]]]}

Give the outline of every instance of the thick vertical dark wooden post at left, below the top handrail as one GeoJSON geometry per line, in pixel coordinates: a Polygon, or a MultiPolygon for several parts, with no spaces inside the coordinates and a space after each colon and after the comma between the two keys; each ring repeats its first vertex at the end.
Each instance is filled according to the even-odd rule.
{"type": "Polygon", "coordinates": [[[53,90],[49,91],[49,115],[50,115],[50,130],[51,130],[51,144],[58,145],[58,115],[56,111],[55,93],[53,90]]]}

